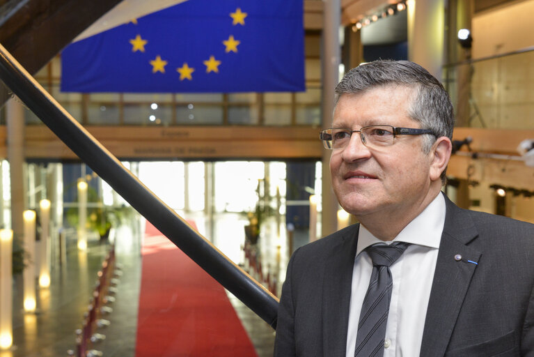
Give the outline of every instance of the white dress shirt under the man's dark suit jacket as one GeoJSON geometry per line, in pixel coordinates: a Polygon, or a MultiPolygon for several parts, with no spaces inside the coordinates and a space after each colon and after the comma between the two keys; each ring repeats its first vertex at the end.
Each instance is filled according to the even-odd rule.
{"type": "MultiPolygon", "coordinates": [[[[445,199],[441,193],[393,241],[380,241],[360,225],[352,271],[347,357],[354,357],[361,305],[372,273],[372,261],[364,251],[375,243],[411,243],[390,266],[393,291],[384,342],[384,357],[419,356],[430,289],[445,223],[445,199]]],[[[387,223],[385,223],[387,224],[387,223]]]]}

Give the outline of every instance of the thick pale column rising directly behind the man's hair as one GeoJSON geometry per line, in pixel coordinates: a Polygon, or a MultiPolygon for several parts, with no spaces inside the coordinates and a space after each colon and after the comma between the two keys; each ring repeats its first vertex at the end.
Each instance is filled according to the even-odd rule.
{"type": "Polygon", "coordinates": [[[441,80],[445,40],[444,0],[408,0],[408,58],[441,80]]]}

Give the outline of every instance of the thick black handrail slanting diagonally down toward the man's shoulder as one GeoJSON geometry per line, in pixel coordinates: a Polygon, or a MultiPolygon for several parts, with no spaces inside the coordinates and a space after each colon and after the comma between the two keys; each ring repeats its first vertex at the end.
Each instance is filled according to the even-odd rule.
{"type": "Polygon", "coordinates": [[[276,328],[278,299],[189,227],[107,151],[0,45],[0,79],[43,123],[152,225],[276,328]]]}

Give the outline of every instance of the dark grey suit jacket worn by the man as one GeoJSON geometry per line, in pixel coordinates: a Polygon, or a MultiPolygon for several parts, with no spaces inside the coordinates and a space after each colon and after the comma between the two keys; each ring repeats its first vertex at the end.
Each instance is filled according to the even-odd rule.
{"type": "MultiPolygon", "coordinates": [[[[358,230],[347,227],[292,255],[275,356],[345,357],[358,230]]],[[[534,225],[446,199],[420,356],[533,357],[533,288],[534,225]]]]}

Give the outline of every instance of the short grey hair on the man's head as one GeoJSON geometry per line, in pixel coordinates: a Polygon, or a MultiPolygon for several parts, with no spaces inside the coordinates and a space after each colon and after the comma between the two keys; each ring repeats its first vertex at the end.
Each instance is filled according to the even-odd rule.
{"type": "MultiPolygon", "coordinates": [[[[379,60],[352,68],[336,86],[335,105],[343,93],[363,93],[392,84],[414,89],[408,115],[421,123],[421,128],[432,130],[436,137],[453,138],[454,110],[447,91],[425,68],[414,62],[379,60]]],[[[436,137],[430,134],[423,137],[423,151],[429,153],[436,137]]]]}

